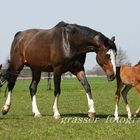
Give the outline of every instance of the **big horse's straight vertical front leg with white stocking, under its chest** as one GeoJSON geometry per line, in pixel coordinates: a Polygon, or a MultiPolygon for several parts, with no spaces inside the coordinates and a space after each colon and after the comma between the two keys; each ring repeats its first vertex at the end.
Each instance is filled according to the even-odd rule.
{"type": "Polygon", "coordinates": [[[61,73],[59,72],[59,70],[55,70],[54,71],[54,96],[55,96],[55,100],[54,100],[54,105],[53,105],[53,112],[54,115],[53,117],[55,119],[59,119],[61,118],[59,110],[58,110],[58,99],[60,96],[60,82],[61,82],[61,73]]]}

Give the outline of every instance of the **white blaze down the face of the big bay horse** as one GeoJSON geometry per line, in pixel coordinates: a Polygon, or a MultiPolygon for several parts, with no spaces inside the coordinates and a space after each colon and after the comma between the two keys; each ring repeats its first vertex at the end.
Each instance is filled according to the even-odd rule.
{"type": "Polygon", "coordinates": [[[110,55],[110,59],[111,59],[111,63],[113,65],[113,71],[114,71],[114,75],[116,75],[116,56],[115,56],[115,51],[110,49],[108,50],[107,54],[110,55]]]}

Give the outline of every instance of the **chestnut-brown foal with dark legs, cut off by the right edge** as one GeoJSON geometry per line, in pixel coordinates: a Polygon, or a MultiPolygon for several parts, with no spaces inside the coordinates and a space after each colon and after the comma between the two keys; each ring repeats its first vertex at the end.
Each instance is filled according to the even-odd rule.
{"type": "MultiPolygon", "coordinates": [[[[131,119],[132,115],[127,101],[127,94],[132,87],[135,87],[140,96],[140,62],[135,66],[121,65],[120,67],[117,67],[116,80],[117,80],[117,90],[115,93],[115,102],[116,102],[114,113],[115,120],[119,119],[118,109],[119,109],[120,92],[126,104],[128,119],[131,119]],[[121,90],[122,88],[123,90],[121,90]]],[[[134,117],[137,117],[139,113],[140,107],[137,109],[134,117]]]]}

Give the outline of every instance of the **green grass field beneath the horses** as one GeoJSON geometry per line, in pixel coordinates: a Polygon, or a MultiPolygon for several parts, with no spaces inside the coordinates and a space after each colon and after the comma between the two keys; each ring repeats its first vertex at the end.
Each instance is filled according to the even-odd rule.
{"type": "MultiPolygon", "coordinates": [[[[37,102],[41,118],[34,118],[29,95],[30,80],[18,80],[13,90],[12,106],[5,116],[0,115],[0,139],[4,140],[139,140],[140,118],[128,121],[125,105],[120,101],[120,120],[114,121],[115,81],[106,78],[88,78],[92,87],[97,119],[87,117],[87,99],[80,83],[75,78],[64,79],[61,83],[59,110],[60,120],[52,115],[53,90],[47,91],[46,80],[38,86],[37,102]]],[[[0,107],[5,102],[4,90],[0,94],[0,107]]],[[[132,112],[139,107],[139,98],[134,89],[128,100],[132,112]]]]}

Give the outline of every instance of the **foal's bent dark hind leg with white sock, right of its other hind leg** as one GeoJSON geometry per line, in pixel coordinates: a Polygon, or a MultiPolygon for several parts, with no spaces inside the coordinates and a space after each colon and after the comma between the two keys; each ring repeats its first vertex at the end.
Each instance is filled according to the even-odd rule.
{"type": "Polygon", "coordinates": [[[122,96],[123,96],[123,99],[124,99],[124,102],[126,104],[126,111],[127,111],[127,114],[128,114],[128,119],[131,119],[131,111],[130,111],[130,107],[128,105],[128,101],[127,101],[127,94],[128,94],[128,91],[132,88],[132,86],[125,86],[123,91],[122,91],[122,96]]]}

